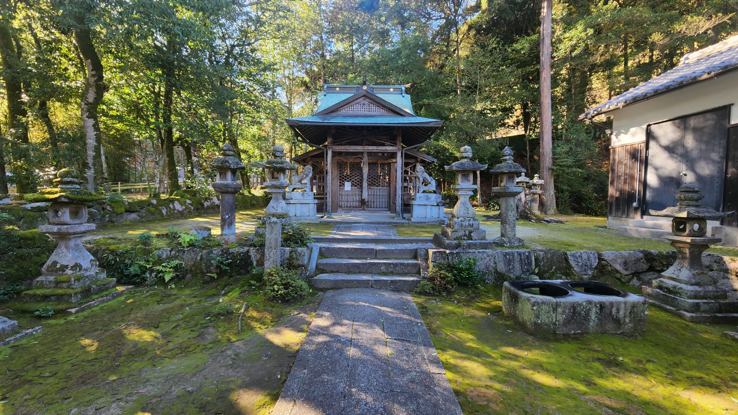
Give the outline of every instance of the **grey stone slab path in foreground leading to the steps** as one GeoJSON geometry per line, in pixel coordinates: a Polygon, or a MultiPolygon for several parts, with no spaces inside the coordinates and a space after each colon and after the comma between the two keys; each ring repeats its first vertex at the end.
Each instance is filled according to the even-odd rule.
{"type": "Polygon", "coordinates": [[[407,293],[325,293],[272,415],[461,415],[407,293]]]}

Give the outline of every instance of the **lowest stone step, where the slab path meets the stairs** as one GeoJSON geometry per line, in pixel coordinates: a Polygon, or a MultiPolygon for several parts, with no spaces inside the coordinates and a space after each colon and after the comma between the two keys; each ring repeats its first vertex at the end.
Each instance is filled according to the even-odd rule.
{"type": "Polygon", "coordinates": [[[418,274],[379,275],[376,273],[321,273],[310,279],[317,288],[371,287],[382,290],[410,291],[423,279],[418,274]]]}

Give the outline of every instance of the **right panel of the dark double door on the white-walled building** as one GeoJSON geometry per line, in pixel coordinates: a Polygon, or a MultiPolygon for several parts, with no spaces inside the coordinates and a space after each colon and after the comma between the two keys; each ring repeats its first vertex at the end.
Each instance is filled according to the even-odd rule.
{"type": "Polygon", "coordinates": [[[727,127],[728,108],[723,107],[688,116],[684,130],[681,183],[700,186],[702,206],[718,211],[723,207],[727,127]]]}

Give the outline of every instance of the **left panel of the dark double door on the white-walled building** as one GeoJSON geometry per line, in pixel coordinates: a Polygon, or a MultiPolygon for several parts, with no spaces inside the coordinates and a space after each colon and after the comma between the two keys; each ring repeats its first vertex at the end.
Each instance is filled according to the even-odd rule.
{"type": "Polygon", "coordinates": [[[649,126],[648,168],[646,169],[646,215],[649,209],[674,206],[681,186],[684,119],[649,126]]]}

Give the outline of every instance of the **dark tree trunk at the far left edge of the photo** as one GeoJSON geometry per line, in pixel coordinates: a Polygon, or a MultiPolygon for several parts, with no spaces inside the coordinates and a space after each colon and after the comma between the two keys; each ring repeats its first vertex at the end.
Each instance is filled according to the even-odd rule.
{"type": "MultiPolygon", "coordinates": [[[[15,190],[27,193],[30,190],[30,169],[24,161],[28,158],[28,109],[23,99],[23,79],[21,77],[20,51],[13,41],[10,22],[0,21],[0,55],[2,57],[2,77],[7,99],[7,125],[10,139],[10,157],[13,160],[15,190]]],[[[4,170],[4,166],[3,166],[4,170]]]]}

